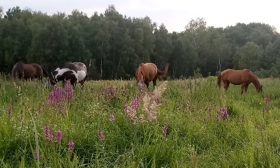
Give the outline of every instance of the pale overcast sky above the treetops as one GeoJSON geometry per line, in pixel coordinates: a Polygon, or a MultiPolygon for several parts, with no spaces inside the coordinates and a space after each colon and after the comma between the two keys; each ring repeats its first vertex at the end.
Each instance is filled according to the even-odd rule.
{"type": "Polygon", "coordinates": [[[75,9],[91,17],[94,12],[104,13],[109,5],[127,17],[148,16],[158,26],[162,23],[168,32],[185,30],[196,18],[204,18],[206,26],[227,27],[236,23],[260,22],[277,28],[280,32],[280,12],[276,0],[1,0],[4,14],[19,6],[48,15],[57,12],[71,14],[75,9]]]}

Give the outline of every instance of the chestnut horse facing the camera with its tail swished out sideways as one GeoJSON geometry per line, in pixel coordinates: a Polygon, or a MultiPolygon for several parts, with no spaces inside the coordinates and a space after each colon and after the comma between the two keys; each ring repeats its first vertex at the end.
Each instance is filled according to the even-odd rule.
{"type": "Polygon", "coordinates": [[[165,77],[167,70],[168,64],[165,65],[164,71],[160,71],[153,63],[141,63],[135,74],[138,88],[142,89],[144,84],[148,88],[151,81],[153,81],[155,87],[157,85],[157,79],[165,77]]]}

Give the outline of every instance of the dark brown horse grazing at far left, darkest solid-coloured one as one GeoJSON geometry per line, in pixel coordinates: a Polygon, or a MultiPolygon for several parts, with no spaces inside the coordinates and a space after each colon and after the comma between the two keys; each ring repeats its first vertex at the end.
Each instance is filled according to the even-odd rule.
{"type": "Polygon", "coordinates": [[[17,62],[12,69],[12,76],[19,79],[39,79],[43,76],[48,76],[48,72],[36,63],[25,64],[23,62],[17,62]]]}

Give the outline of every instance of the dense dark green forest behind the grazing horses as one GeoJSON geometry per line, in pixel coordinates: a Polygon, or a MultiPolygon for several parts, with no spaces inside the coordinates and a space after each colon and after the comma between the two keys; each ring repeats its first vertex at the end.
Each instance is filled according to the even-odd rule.
{"type": "Polygon", "coordinates": [[[278,78],[280,34],[265,23],[209,27],[204,18],[192,19],[182,32],[168,32],[164,23],[127,17],[114,5],[90,17],[77,9],[50,16],[18,6],[4,14],[0,7],[0,72],[10,73],[18,61],[49,72],[84,62],[93,80],[134,78],[141,62],[160,70],[168,63],[169,79],[216,76],[227,68],[278,78]]]}

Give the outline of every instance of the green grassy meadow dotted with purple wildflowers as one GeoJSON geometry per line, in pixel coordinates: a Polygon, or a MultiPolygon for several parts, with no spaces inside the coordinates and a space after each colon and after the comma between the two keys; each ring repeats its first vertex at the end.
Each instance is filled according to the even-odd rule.
{"type": "Polygon", "coordinates": [[[72,95],[0,76],[0,167],[279,168],[280,80],[241,95],[216,79],[147,93],[135,81],[89,81],[72,95]]]}

